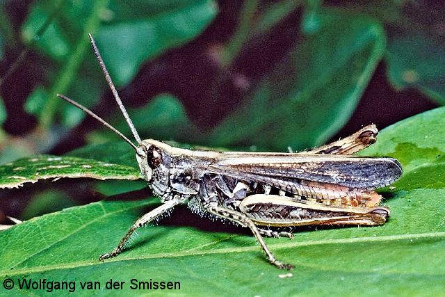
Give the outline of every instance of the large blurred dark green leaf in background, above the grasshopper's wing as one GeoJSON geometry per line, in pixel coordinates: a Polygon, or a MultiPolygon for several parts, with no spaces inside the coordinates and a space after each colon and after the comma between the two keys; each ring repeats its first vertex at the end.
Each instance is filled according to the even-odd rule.
{"type": "Polygon", "coordinates": [[[296,45],[209,143],[302,150],[345,124],[382,57],[385,34],[372,19],[329,11],[319,16],[319,31],[296,45]]]}

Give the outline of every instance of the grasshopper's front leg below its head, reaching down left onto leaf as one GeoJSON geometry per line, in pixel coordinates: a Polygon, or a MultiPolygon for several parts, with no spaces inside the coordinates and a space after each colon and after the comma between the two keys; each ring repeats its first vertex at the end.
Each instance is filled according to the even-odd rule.
{"type": "Polygon", "coordinates": [[[138,229],[139,227],[142,227],[143,225],[151,222],[152,220],[154,220],[154,218],[157,218],[157,217],[161,216],[162,214],[165,214],[166,212],[170,211],[170,209],[175,207],[177,204],[179,204],[179,200],[173,198],[172,200],[168,200],[167,202],[165,202],[161,206],[156,207],[155,209],[153,209],[149,213],[141,216],[130,227],[130,229],[128,230],[127,234],[125,234],[124,238],[122,238],[122,240],[120,241],[118,246],[112,252],[107,252],[106,254],[100,255],[99,261],[103,261],[104,259],[108,259],[108,258],[115,257],[115,256],[119,255],[122,252],[122,250],[124,250],[125,243],[127,243],[127,241],[129,241],[129,239],[131,237],[131,234],[133,234],[133,232],[136,229],[138,229]]]}

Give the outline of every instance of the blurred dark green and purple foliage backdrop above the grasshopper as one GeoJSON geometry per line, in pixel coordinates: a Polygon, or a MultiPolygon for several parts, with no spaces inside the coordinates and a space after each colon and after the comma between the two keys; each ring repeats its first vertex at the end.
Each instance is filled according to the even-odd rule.
{"type": "Polygon", "coordinates": [[[283,151],[382,129],[445,102],[441,3],[2,1],[0,161],[117,139],[56,93],[128,134],[87,33],[145,138],[283,151]]]}

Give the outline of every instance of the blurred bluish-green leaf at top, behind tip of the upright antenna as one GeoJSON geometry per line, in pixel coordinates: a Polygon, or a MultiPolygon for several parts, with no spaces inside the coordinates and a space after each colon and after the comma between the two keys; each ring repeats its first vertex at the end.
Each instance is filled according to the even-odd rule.
{"type": "Polygon", "coordinates": [[[115,19],[99,30],[97,44],[117,86],[129,83],[147,59],[201,33],[217,12],[210,0],[115,4],[110,6],[115,19]]]}

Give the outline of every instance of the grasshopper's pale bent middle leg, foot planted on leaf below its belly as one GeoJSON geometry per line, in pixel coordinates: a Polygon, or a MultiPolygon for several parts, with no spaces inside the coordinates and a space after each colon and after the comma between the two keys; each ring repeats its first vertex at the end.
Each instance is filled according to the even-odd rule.
{"type": "Polygon", "coordinates": [[[261,237],[261,232],[258,230],[257,226],[244,214],[239,213],[238,211],[234,211],[232,209],[226,209],[223,207],[217,207],[208,205],[204,207],[207,211],[209,211],[211,214],[214,214],[216,216],[219,216],[220,218],[225,218],[227,220],[232,220],[235,223],[238,223],[239,225],[243,227],[249,227],[254,236],[257,238],[257,241],[261,248],[266,253],[266,257],[268,259],[268,262],[271,264],[274,264],[280,269],[292,269],[293,266],[291,264],[284,264],[280,261],[278,261],[273,255],[272,252],[268,249],[266,246],[266,243],[264,242],[263,237],[261,237]]]}

